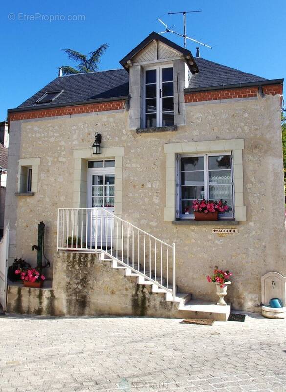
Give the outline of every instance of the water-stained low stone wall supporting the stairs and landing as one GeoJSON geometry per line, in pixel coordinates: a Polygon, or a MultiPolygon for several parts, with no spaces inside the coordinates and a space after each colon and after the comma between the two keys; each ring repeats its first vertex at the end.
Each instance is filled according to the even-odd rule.
{"type": "MultiPolygon", "coordinates": [[[[177,317],[178,304],[92,254],[56,252],[53,289],[9,286],[9,313],[177,317]]],[[[181,312],[183,313],[183,312],[181,312]]],[[[182,315],[180,315],[182,317],[182,315]]]]}

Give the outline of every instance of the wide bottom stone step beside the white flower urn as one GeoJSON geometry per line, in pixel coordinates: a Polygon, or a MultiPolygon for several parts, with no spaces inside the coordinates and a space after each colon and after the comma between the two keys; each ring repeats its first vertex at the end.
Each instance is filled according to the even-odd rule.
{"type": "Polygon", "coordinates": [[[182,319],[214,319],[227,321],[231,312],[231,304],[217,305],[215,302],[190,300],[179,305],[179,315],[182,319]]]}

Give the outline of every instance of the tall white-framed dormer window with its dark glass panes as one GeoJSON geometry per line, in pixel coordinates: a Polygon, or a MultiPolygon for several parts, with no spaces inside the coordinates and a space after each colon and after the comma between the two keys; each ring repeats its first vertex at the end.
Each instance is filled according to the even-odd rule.
{"type": "Polygon", "coordinates": [[[145,128],[174,125],[173,67],[145,69],[145,128]]]}

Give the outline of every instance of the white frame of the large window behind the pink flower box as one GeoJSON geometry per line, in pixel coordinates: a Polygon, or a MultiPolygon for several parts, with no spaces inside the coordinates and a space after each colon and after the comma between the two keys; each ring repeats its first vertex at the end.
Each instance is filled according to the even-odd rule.
{"type": "MultiPolygon", "coordinates": [[[[208,157],[210,156],[220,156],[229,155],[230,156],[230,172],[231,172],[231,186],[232,186],[232,211],[230,213],[223,214],[219,217],[220,220],[223,219],[234,219],[235,217],[235,207],[234,207],[234,178],[233,178],[233,154],[232,152],[214,152],[206,154],[177,154],[176,155],[176,218],[177,219],[195,219],[194,214],[186,215],[182,214],[182,203],[181,203],[181,159],[189,157],[203,157],[204,158],[204,198],[209,199],[209,162],[208,157]]],[[[224,170],[224,169],[221,169],[224,170]]]]}

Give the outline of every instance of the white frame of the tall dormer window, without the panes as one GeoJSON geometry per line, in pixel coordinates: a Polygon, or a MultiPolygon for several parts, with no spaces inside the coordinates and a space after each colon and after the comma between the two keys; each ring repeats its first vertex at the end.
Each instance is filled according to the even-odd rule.
{"type": "MultiPolygon", "coordinates": [[[[156,120],[157,127],[163,126],[163,82],[162,82],[162,70],[164,68],[173,68],[173,80],[168,80],[168,82],[173,83],[173,110],[170,110],[170,113],[173,112],[174,118],[174,66],[172,63],[159,65],[159,66],[150,66],[144,68],[144,76],[143,76],[143,127],[146,128],[146,71],[156,70],[156,100],[157,100],[157,111],[156,111],[156,120]]],[[[166,96],[164,98],[168,98],[172,96],[166,96]]],[[[154,98],[153,98],[154,99],[154,98]]],[[[164,112],[168,113],[168,112],[164,112]]],[[[174,125],[174,122],[173,122],[174,125]]]]}

